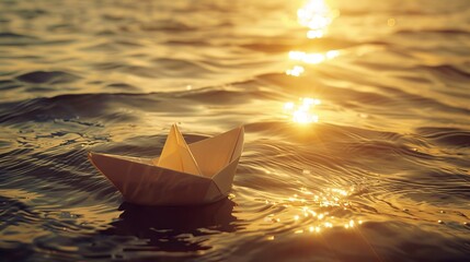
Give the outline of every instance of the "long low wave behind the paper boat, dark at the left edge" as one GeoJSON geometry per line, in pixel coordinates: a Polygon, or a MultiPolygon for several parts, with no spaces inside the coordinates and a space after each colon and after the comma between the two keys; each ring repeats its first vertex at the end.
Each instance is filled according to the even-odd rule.
{"type": "Polygon", "coordinates": [[[197,103],[223,105],[247,103],[252,99],[272,98],[266,91],[243,91],[238,88],[199,88],[192,92],[170,93],[113,93],[58,95],[15,103],[0,104],[0,122],[21,123],[31,120],[78,120],[136,122],[131,110],[188,111],[196,109],[197,103]],[[177,103],[174,100],[177,99],[177,103]],[[193,103],[182,103],[182,99],[193,103]],[[99,102],[99,103],[96,103],[99,102]],[[12,109],[13,108],[13,109],[12,109]]]}

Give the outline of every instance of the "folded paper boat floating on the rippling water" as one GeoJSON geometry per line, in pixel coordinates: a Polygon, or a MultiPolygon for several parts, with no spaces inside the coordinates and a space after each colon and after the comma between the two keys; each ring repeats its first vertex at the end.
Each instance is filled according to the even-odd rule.
{"type": "Polygon", "coordinates": [[[218,201],[231,189],[243,148],[243,127],[186,144],[175,124],[160,157],[89,153],[89,159],[127,202],[191,205],[218,201]]]}

